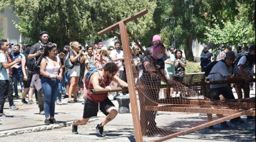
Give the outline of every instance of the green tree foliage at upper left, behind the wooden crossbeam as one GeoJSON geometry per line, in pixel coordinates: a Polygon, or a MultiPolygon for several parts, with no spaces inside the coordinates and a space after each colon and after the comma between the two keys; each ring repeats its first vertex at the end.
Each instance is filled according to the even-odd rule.
{"type": "Polygon", "coordinates": [[[50,41],[63,47],[65,42],[77,41],[87,44],[98,42],[117,36],[107,33],[98,36],[98,31],[113,25],[117,21],[131,16],[142,9],[149,9],[149,13],[127,26],[137,38],[143,37],[153,26],[152,13],[156,3],[146,0],[109,0],[109,1],[79,1],[79,0],[3,0],[3,7],[11,7],[20,19],[15,22],[23,36],[30,38],[30,42],[38,41],[38,33],[49,31],[50,41]],[[129,6],[128,6],[129,5],[129,6]],[[143,29],[143,30],[141,30],[143,29]]]}

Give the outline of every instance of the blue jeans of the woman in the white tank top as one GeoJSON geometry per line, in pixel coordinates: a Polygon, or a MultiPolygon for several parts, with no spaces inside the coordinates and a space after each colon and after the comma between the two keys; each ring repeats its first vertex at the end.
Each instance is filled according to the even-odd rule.
{"type": "Polygon", "coordinates": [[[44,92],[45,118],[54,117],[55,100],[59,92],[59,80],[42,76],[42,91],[44,92]]]}

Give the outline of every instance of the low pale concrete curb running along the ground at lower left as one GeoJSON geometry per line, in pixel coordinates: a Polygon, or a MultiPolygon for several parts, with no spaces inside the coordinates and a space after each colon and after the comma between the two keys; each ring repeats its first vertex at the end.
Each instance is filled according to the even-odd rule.
{"type": "MultiPolygon", "coordinates": [[[[94,121],[97,121],[98,118],[91,118],[88,123],[92,123],[94,121]]],[[[75,121],[75,120],[74,120],[75,121]]],[[[61,129],[62,127],[69,127],[73,123],[73,121],[68,121],[65,123],[59,123],[55,125],[42,125],[38,127],[28,127],[23,129],[15,129],[15,130],[9,130],[9,131],[1,131],[0,137],[8,137],[10,135],[20,135],[23,133],[34,133],[39,131],[47,131],[51,129],[61,129]]]]}

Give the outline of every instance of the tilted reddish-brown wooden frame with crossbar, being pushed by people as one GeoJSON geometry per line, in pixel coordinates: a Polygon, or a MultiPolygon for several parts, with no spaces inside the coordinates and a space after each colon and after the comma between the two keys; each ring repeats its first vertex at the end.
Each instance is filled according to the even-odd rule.
{"type": "MultiPolygon", "coordinates": [[[[98,32],[98,35],[102,36],[105,33],[108,33],[110,31],[114,31],[114,29],[119,28],[120,29],[120,36],[121,36],[121,42],[122,42],[122,46],[123,46],[123,52],[124,54],[124,60],[125,60],[125,68],[126,68],[126,73],[127,73],[127,83],[129,85],[129,88],[113,88],[113,90],[111,92],[116,92],[119,90],[129,90],[129,97],[130,97],[130,102],[131,102],[131,113],[132,113],[132,118],[133,118],[133,127],[134,127],[134,131],[135,131],[135,139],[136,141],[143,141],[143,135],[145,134],[145,130],[146,128],[141,128],[141,123],[139,121],[140,117],[139,117],[139,109],[138,109],[138,105],[137,105],[137,97],[136,97],[136,93],[135,90],[137,88],[139,88],[140,86],[136,86],[135,87],[135,82],[134,82],[134,78],[133,78],[133,66],[131,65],[131,52],[129,49],[129,40],[128,40],[128,35],[131,37],[131,39],[133,40],[133,42],[135,42],[135,44],[137,44],[137,46],[139,46],[139,48],[141,49],[141,51],[144,51],[143,48],[141,48],[141,46],[139,45],[139,43],[137,42],[137,40],[135,40],[135,38],[131,35],[131,33],[127,30],[127,27],[125,25],[125,23],[132,21],[133,19],[137,19],[137,17],[141,17],[142,15],[148,13],[147,9],[144,9],[142,11],[139,11],[139,13],[136,13],[135,15],[132,15],[131,17],[127,17],[117,23],[115,23],[114,25],[110,25],[109,27],[106,27],[106,29],[103,29],[102,31],[98,32]],[[143,131],[141,131],[143,129],[143,131]]],[[[146,55],[148,56],[148,55],[146,55]]],[[[155,65],[154,65],[155,66],[155,65]]],[[[255,81],[255,80],[254,80],[255,81]]],[[[189,83],[187,84],[188,86],[199,86],[199,85],[209,85],[209,84],[222,84],[222,83],[227,83],[227,82],[234,82],[234,81],[220,81],[220,82],[195,82],[195,83],[189,83]]],[[[241,80],[238,80],[238,82],[241,82],[241,80]]],[[[174,85],[174,84],[171,84],[174,85]]],[[[146,87],[146,86],[141,86],[141,87],[146,87]]],[[[166,85],[161,85],[160,88],[170,88],[170,86],[166,86],[166,85]]],[[[99,93],[99,92],[110,92],[107,89],[104,90],[92,90],[92,93],[99,93]]],[[[204,123],[203,125],[199,125],[197,127],[193,127],[191,129],[187,129],[185,131],[179,131],[178,133],[173,133],[171,135],[167,135],[165,137],[162,137],[160,139],[156,139],[155,141],[164,141],[167,139],[171,139],[173,137],[177,137],[179,135],[185,135],[187,133],[191,133],[193,131],[197,131],[199,129],[203,129],[205,127],[210,127],[214,124],[217,123],[221,123],[223,121],[227,121],[229,119],[235,118],[235,117],[240,117],[241,115],[255,115],[255,111],[253,111],[253,109],[255,109],[255,102],[251,103],[251,102],[247,102],[247,100],[228,100],[227,102],[231,101],[232,104],[239,104],[241,106],[245,106],[245,107],[249,107],[249,108],[253,108],[253,109],[248,109],[245,111],[241,111],[241,110],[225,110],[225,109],[193,109],[193,108],[184,108],[184,106],[198,106],[198,105],[202,105],[202,104],[214,104],[214,102],[210,101],[210,100],[190,100],[190,99],[181,99],[179,100],[179,98],[176,98],[174,100],[176,103],[179,102],[179,104],[171,104],[172,99],[168,99],[168,103],[166,104],[164,102],[158,102],[158,104],[163,104],[164,106],[145,106],[144,111],[170,111],[170,112],[187,112],[187,113],[206,113],[208,115],[208,119],[210,118],[209,116],[214,113],[218,113],[218,114],[226,114],[229,115],[227,117],[222,117],[221,119],[217,119],[214,121],[208,121],[207,123],[204,123]],[[183,107],[182,107],[183,106],[183,107]]]]}

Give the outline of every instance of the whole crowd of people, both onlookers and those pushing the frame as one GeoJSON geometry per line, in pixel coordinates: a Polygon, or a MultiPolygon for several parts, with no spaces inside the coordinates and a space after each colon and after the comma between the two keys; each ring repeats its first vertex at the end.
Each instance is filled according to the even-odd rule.
{"type": "MultiPolygon", "coordinates": [[[[111,90],[115,86],[127,87],[126,72],[124,66],[124,53],[121,50],[121,43],[115,42],[114,46],[106,48],[102,42],[92,46],[82,48],[78,42],[70,42],[58,52],[57,44],[49,42],[49,33],[42,31],[39,33],[38,43],[24,46],[24,52],[20,52],[20,45],[12,45],[7,40],[0,41],[0,117],[6,117],[3,113],[5,98],[8,98],[9,109],[17,110],[13,99],[18,99],[18,82],[22,88],[22,102],[24,104],[34,104],[33,94],[36,96],[40,115],[45,116],[44,124],[57,123],[55,120],[55,105],[61,105],[61,99],[68,98],[67,103],[84,103],[84,115],[82,119],[77,119],[72,123],[72,133],[77,134],[77,125],[84,125],[90,117],[98,113],[98,109],[106,115],[106,119],[96,126],[96,131],[104,136],[103,127],[117,116],[115,105],[109,100],[108,93],[92,95],[92,88],[108,88],[111,90]],[[13,46],[13,47],[12,47],[13,46]],[[84,89],[84,100],[79,100],[78,93],[84,89]],[[65,91],[64,91],[65,90],[65,91]],[[65,92],[64,96],[62,93],[65,92]],[[13,94],[14,93],[14,94],[13,94]],[[28,101],[26,95],[28,94],[28,101]],[[72,99],[73,98],[73,99],[72,99]]],[[[216,60],[218,62],[212,69],[212,73],[207,76],[210,80],[226,80],[234,78],[244,78],[255,76],[253,66],[255,65],[255,46],[247,45],[248,52],[241,48],[243,44],[238,44],[236,53],[232,52],[232,46],[220,45],[216,60]],[[239,58],[242,56],[242,58],[239,58]],[[234,60],[239,60],[237,66],[232,66],[234,60]],[[232,66],[232,68],[231,68],[232,66]],[[213,73],[214,72],[214,73],[213,73]],[[234,74],[232,74],[233,72],[234,74]]],[[[162,44],[160,36],[152,38],[152,47],[146,48],[146,53],[156,64],[152,66],[137,45],[131,47],[132,64],[139,78],[148,84],[149,72],[160,70],[168,80],[183,82],[187,60],[183,52],[175,46],[166,48],[162,44]]],[[[212,62],[213,54],[209,48],[204,46],[201,52],[201,71],[204,72],[208,64],[212,62]]],[[[156,72],[157,73],[157,72],[156,72]]],[[[151,78],[154,79],[154,78],[151,78]]],[[[155,82],[158,82],[156,78],[155,82]]],[[[243,98],[241,89],[244,90],[245,98],[249,98],[249,86],[247,84],[235,84],[238,98],[243,98]]],[[[171,88],[172,94],[174,88],[171,88]]],[[[234,95],[228,84],[211,85],[212,98],[215,100],[232,99],[234,95]]],[[[159,90],[154,90],[158,96],[159,90]]],[[[128,92],[123,92],[127,94],[128,92]]],[[[116,92],[115,96],[119,96],[116,92]]],[[[152,112],[148,123],[156,129],[154,118],[156,114],[152,112]]],[[[235,119],[234,121],[241,121],[235,119]]],[[[223,123],[223,125],[225,125],[223,123]]],[[[148,128],[150,130],[150,127],[148,128]]]]}

